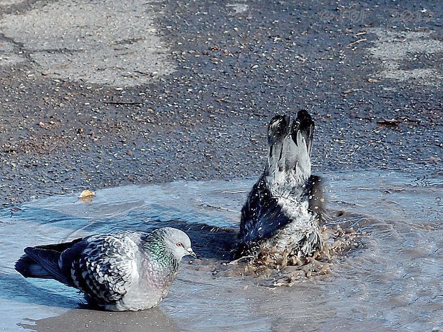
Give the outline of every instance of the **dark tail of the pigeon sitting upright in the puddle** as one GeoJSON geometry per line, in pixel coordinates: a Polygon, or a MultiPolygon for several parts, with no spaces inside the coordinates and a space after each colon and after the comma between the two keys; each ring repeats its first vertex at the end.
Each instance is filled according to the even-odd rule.
{"type": "Polygon", "coordinates": [[[60,268],[59,259],[63,250],[81,240],[27,247],[24,250],[25,254],[15,263],[15,270],[25,278],[55,279],[65,285],[71,285],[72,281],[60,268]]]}

